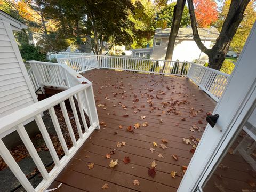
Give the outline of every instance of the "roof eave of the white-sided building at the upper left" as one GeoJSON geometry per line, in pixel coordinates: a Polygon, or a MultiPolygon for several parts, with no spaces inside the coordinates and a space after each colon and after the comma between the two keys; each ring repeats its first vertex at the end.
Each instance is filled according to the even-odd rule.
{"type": "Polygon", "coordinates": [[[20,20],[12,17],[11,15],[7,14],[2,10],[0,10],[0,19],[9,22],[12,27],[12,30],[21,30],[28,28],[28,26],[22,23],[20,20]]]}

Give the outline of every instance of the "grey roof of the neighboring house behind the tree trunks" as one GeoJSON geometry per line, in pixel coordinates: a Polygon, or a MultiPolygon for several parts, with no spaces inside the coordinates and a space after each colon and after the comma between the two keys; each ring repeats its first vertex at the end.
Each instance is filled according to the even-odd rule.
{"type": "MultiPolygon", "coordinates": [[[[219,31],[212,27],[209,28],[197,28],[201,39],[216,39],[219,36],[219,31]]],[[[155,30],[154,37],[169,37],[171,28],[155,30]]],[[[193,39],[193,31],[191,27],[179,28],[177,39],[193,39]]]]}

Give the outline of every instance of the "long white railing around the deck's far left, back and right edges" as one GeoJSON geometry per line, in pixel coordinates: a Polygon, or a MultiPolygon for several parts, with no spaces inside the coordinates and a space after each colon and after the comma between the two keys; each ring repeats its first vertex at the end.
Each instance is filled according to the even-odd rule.
{"type": "Polygon", "coordinates": [[[218,101],[228,81],[228,74],[192,62],[165,61],[106,55],[62,58],[58,63],[70,66],[78,73],[95,68],[137,71],[141,73],[186,76],[218,101]]]}

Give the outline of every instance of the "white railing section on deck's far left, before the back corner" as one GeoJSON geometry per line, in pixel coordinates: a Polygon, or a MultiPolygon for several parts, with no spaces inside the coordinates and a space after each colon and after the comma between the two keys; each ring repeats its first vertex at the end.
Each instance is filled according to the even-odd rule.
{"type": "Polygon", "coordinates": [[[82,73],[87,70],[98,68],[97,55],[84,56],[84,57],[72,57],[58,59],[58,63],[65,64],[77,73],[82,73]]]}

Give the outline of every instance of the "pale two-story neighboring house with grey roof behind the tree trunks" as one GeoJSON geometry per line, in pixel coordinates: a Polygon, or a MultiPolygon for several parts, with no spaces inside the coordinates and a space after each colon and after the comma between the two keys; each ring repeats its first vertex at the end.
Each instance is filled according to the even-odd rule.
{"type": "MultiPolygon", "coordinates": [[[[171,28],[156,29],[153,42],[152,58],[164,60],[169,42],[171,28]]],[[[210,29],[198,28],[198,33],[203,44],[212,47],[219,36],[219,31],[211,27],[210,29]]],[[[180,28],[175,40],[172,60],[195,61],[208,60],[208,57],[196,45],[193,39],[192,28],[180,28]]]]}

